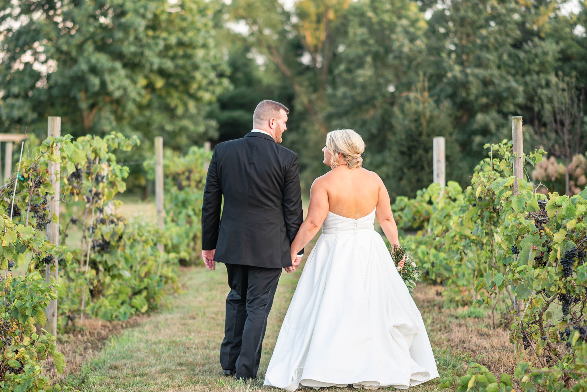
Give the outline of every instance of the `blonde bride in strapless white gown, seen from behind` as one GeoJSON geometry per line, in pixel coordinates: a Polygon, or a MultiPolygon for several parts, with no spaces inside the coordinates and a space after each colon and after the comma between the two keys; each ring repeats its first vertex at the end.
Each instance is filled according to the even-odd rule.
{"type": "Polygon", "coordinates": [[[377,217],[390,244],[399,244],[387,190],[361,167],[364,149],[353,130],[326,136],[332,170],[312,185],[292,261],[321,226],[322,235],[279,331],[266,386],[407,389],[438,377],[420,311],[373,229],[377,217]]]}

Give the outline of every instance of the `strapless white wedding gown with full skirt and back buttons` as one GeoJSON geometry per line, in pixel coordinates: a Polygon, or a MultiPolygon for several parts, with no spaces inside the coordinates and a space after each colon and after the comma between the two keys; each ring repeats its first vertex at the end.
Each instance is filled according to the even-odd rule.
{"type": "Polygon", "coordinates": [[[328,213],[295,290],[265,385],[408,387],[438,377],[420,311],[373,229],[328,213]]]}

